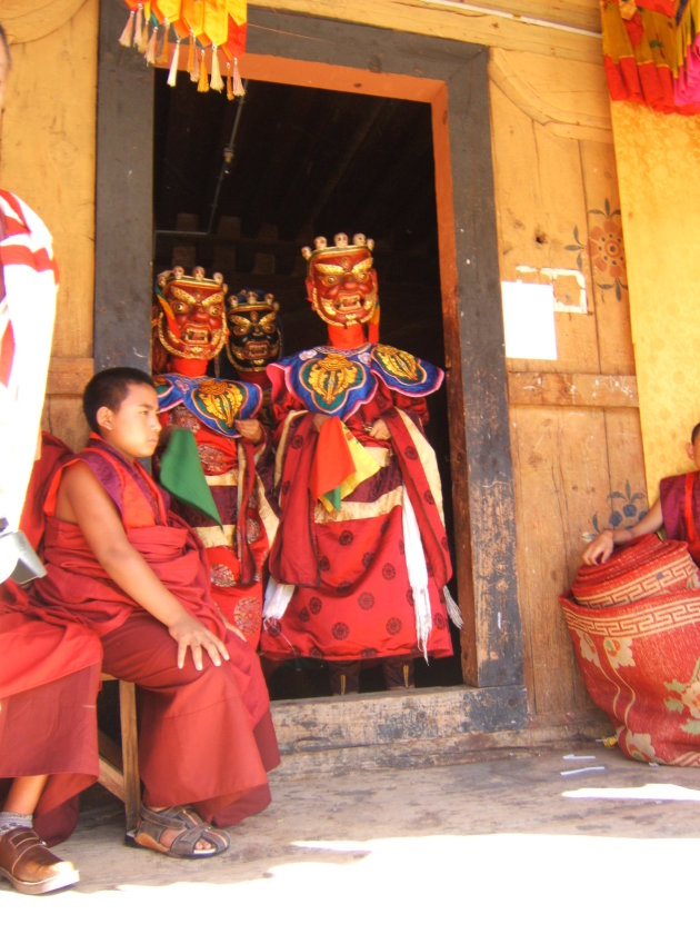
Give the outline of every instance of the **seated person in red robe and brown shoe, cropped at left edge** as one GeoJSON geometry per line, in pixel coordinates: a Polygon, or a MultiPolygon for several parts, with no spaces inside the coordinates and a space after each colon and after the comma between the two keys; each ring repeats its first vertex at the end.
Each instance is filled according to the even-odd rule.
{"type": "MultiPolygon", "coordinates": [[[[71,451],[44,435],[20,528],[37,548],[46,487],[71,451]]],[[[78,817],[77,794],[98,776],[96,696],[102,650],[78,620],[33,608],[0,586],[0,876],[39,895],[74,885],[78,870],[48,848],[78,817]]]]}

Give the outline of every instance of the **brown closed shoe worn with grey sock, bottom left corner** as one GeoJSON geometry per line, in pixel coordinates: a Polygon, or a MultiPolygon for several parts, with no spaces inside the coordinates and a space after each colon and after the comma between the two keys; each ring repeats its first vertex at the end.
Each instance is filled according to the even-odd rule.
{"type": "Polygon", "coordinates": [[[43,895],[80,882],[73,864],[54,856],[29,827],[0,834],[0,876],[24,895],[43,895]]]}

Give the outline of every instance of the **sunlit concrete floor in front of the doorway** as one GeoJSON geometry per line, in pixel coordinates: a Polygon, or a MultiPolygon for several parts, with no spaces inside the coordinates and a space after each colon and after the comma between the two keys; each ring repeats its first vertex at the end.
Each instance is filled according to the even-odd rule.
{"type": "Polygon", "coordinates": [[[80,884],[32,897],[1,883],[1,930],[637,934],[698,923],[700,769],[590,742],[340,777],[282,765],[272,794],[226,855],[194,863],[123,846],[121,806],[88,793],[56,848],[80,884]]]}

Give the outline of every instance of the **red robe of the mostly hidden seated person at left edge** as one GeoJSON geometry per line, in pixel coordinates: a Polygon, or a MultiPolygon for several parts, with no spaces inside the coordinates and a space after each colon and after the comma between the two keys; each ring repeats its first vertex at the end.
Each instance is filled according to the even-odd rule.
{"type": "MultiPolygon", "coordinates": [[[[61,441],[43,436],[20,524],[34,548],[43,531],[46,487],[70,456],[61,441]]],[[[76,795],[99,774],[96,697],[102,648],[78,619],[32,605],[12,582],[0,587],[0,779],[49,775],[34,827],[57,843],[76,825],[76,795]]],[[[2,798],[0,788],[0,805],[2,798]]]]}

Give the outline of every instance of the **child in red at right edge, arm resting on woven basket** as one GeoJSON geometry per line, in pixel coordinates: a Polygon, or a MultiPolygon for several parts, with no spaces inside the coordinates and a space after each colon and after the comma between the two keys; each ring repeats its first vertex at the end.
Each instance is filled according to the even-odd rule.
{"type": "Polygon", "coordinates": [[[663,526],[667,538],[688,543],[691,557],[700,565],[700,423],[692,429],[686,454],[696,469],[663,477],[659,484],[659,498],[649,511],[631,528],[604,528],[583,552],[583,564],[602,564],[616,545],[659,531],[663,526]]]}

